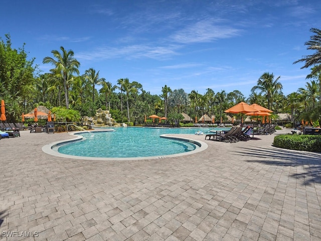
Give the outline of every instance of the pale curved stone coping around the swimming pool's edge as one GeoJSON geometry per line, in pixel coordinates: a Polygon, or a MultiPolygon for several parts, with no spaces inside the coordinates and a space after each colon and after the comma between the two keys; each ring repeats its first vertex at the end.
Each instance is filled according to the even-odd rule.
{"type": "MultiPolygon", "coordinates": [[[[93,130],[90,131],[90,133],[94,132],[111,132],[114,131],[113,129],[105,129],[105,130],[93,130]]],[[[69,135],[74,136],[74,139],[69,139],[69,140],[64,140],[64,141],[58,141],[58,142],[53,142],[48,145],[45,145],[42,147],[42,151],[56,157],[62,157],[62,158],[69,158],[69,159],[78,159],[78,160],[95,160],[95,161],[132,161],[132,160],[148,160],[148,159],[163,159],[163,158],[170,158],[170,157],[179,157],[179,156],[186,156],[186,155],[192,155],[198,152],[202,152],[208,148],[208,145],[205,142],[199,141],[199,140],[194,140],[191,138],[184,138],[182,136],[177,137],[177,136],[171,136],[173,134],[162,134],[160,137],[161,138],[168,138],[168,139],[174,139],[174,140],[179,140],[179,141],[185,141],[189,142],[192,144],[195,144],[198,146],[193,151],[190,152],[184,152],[184,153],[178,153],[178,154],[171,154],[171,155],[162,155],[162,156],[151,156],[151,157],[82,157],[82,156],[72,156],[72,155],[67,155],[67,154],[62,154],[57,151],[54,151],[53,148],[57,146],[61,146],[64,144],[72,143],[72,142],[77,142],[81,141],[84,139],[83,137],[79,136],[78,134],[80,133],[85,133],[89,131],[79,131],[79,132],[74,132],[74,133],[69,133],[69,135]]],[[[174,135],[189,135],[189,134],[174,134],[174,135]]]]}

